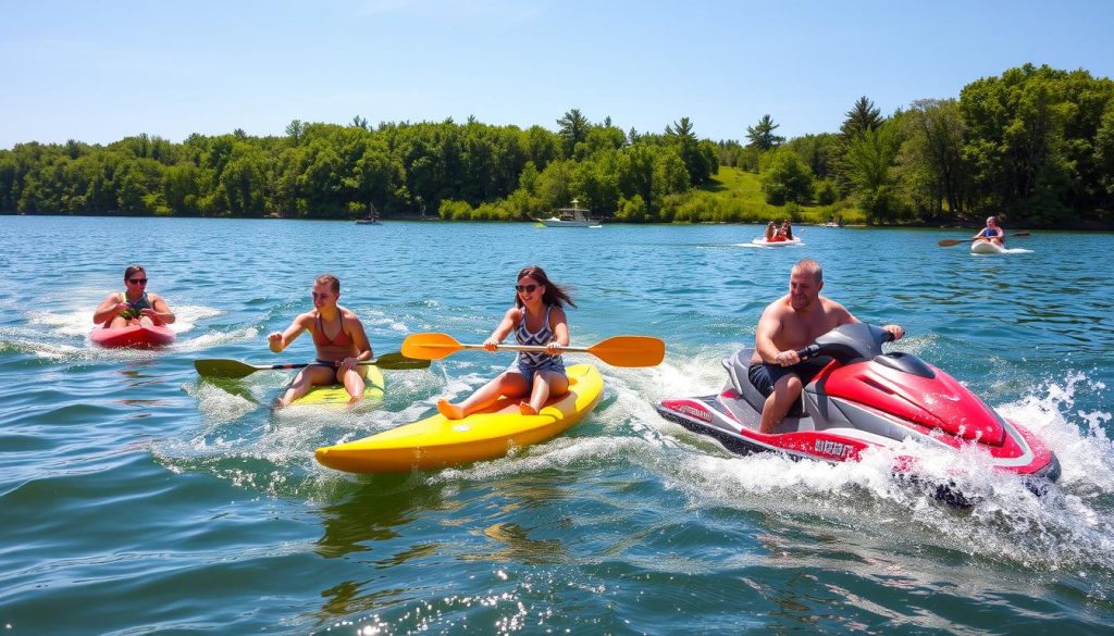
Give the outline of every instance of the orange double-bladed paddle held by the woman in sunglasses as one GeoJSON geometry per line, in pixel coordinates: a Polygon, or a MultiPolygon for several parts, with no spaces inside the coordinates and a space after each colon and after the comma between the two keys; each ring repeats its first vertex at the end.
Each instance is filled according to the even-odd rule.
{"type": "MultiPolygon", "coordinates": [[[[440,360],[463,349],[483,349],[482,344],[460,344],[446,333],[413,333],[402,341],[402,355],[440,360]]],[[[499,351],[546,352],[545,346],[500,344],[499,351]]],[[[563,346],[561,353],[590,353],[612,366],[654,366],[665,359],[665,342],[648,335],[616,335],[593,346],[563,346]]]]}

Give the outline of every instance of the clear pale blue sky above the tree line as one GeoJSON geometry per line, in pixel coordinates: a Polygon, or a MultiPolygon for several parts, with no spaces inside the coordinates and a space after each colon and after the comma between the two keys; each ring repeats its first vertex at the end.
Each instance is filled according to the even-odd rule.
{"type": "Polygon", "coordinates": [[[833,131],[1025,62],[1114,76],[1114,2],[0,0],[0,148],[147,133],[282,135],[293,119],[625,130],[688,117],[742,139],[833,131]]]}

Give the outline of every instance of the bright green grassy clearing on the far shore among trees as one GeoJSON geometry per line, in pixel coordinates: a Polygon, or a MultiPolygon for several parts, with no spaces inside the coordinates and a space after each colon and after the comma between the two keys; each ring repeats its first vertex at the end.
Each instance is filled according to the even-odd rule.
{"type": "Polygon", "coordinates": [[[789,218],[793,223],[825,223],[830,217],[843,223],[866,223],[866,215],[848,202],[832,205],[770,205],[762,182],[752,173],[721,166],[712,183],[677,202],[672,221],[680,223],[765,223],[789,218]]]}

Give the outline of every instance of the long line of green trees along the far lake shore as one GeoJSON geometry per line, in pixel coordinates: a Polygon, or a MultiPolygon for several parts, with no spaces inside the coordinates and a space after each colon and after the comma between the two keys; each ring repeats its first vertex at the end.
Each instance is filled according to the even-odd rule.
{"type": "MultiPolygon", "coordinates": [[[[1005,213],[1036,224],[1111,223],[1114,82],[1026,65],[883,117],[867,98],[839,133],[785,140],[765,115],[742,141],[592,123],[578,109],[521,129],[292,121],[284,136],[138,135],[0,150],[0,213],[451,219],[548,216],[573,198],[625,222],[755,221],[716,194],[721,166],[756,173],[771,205],[872,223],[1005,213]]],[[[759,216],[761,217],[761,216],[759,216]]]]}

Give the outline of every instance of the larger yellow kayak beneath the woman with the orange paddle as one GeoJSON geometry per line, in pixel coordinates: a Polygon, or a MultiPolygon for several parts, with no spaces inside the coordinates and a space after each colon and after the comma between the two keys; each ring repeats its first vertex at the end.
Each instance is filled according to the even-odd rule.
{"type": "Polygon", "coordinates": [[[568,370],[568,393],[537,415],[518,412],[518,400],[500,399],[461,420],[440,413],[349,443],[319,448],[317,461],[349,472],[405,472],[495,459],[515,447],[545,441],[580,421],[599,402],[604,380],[592,364],[568,370]]]}

